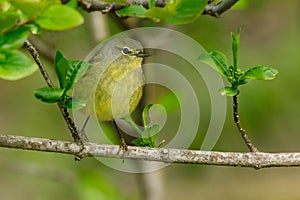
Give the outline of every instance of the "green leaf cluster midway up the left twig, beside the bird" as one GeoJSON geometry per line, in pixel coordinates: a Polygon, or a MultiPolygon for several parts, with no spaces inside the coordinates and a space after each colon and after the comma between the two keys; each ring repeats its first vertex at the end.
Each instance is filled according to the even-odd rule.
{"type": "Polygon", "coordinates": [[[86,99],[72,99],[69,91],[91,67],[91,64],[84,61],[68,60],[59,51],[56,52],[54,64],[59,87],[36,89],[34,90],[34,96],[46,103],[60,103],[69,109],[83,108],[86,105],[86,99]]]}

